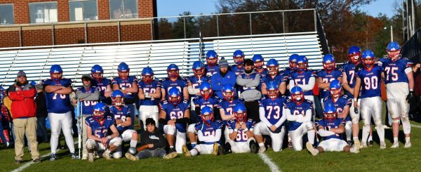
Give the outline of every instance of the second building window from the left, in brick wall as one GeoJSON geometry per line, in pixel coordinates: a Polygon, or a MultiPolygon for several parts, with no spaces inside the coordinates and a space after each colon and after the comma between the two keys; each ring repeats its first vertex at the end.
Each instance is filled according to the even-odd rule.
{"type": "Polygon", "coordinates": [[[31,23],[58,22],[57,2],[29,3],[29,18],[31,23]]]}

